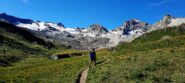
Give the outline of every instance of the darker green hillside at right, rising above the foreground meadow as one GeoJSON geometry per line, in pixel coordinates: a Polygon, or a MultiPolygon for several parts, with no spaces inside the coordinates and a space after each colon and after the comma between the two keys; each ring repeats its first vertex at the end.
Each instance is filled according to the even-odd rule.
{"type": "Polygon", "coordinates": [[[153,31],[135,39],[132,43],[121,43],[116,47],[114,55],[122,55],[136,51],[147,51],[159,48],[182,46],[185,44],[184,37],[185,28],[183,27],[173,27],[153,31]]]}

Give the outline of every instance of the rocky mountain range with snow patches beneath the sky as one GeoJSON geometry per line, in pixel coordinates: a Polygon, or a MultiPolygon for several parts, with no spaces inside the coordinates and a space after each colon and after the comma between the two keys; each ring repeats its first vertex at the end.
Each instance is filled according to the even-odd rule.
{"type": "Polygon", "coordinates": [[[66,28],[62,23],[33,21],[31,19],[14,17],[6,13],[0,14],[0,21],[24,28],[48,41],[61,42],[73,49],[91,49],[114,47],[120,42],[131,42],[144,33],[179,26],[185,23],[185,18],[175,18],[166,15],[155,24],[131,19],[114,30],[107,30],[100,24],[92,24],[86,28],[66,28]]]}

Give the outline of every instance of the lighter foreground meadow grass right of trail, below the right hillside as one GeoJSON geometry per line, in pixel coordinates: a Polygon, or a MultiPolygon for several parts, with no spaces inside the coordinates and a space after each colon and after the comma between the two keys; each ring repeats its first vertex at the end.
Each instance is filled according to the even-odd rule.
{"type": "Polygon", "coordinates": [[[110,59],[89,72],[88,83],[185,82],[184,48],[134,52],[110,59]]]}

